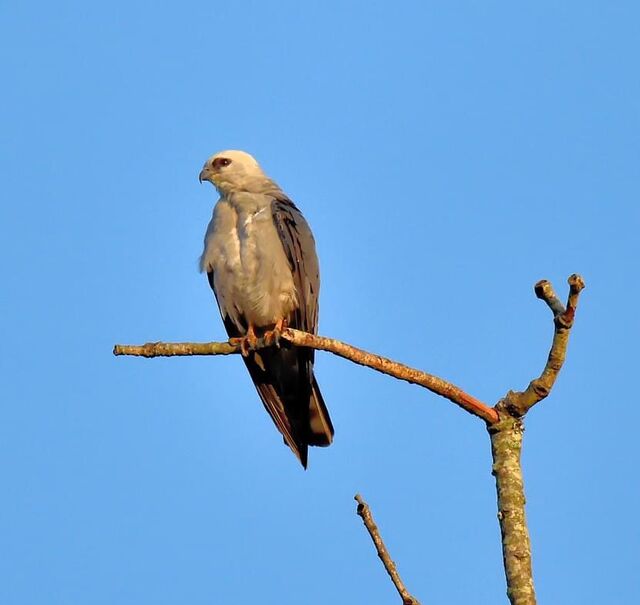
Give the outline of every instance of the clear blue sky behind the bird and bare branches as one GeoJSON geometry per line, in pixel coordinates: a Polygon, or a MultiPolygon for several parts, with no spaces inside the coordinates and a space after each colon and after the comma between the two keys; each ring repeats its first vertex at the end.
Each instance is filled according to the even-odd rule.
{"type": "Polygon", "coordinates": [[[637,2],[0,4],[0,602],[505,602],[482,424],[320,354],[303,472],[197,272],[220,149],[307,216],[320,330],[494,403],[546,359],[541,278],[587,281],[528,418],[542,603],[637,603],[637,2]]]}

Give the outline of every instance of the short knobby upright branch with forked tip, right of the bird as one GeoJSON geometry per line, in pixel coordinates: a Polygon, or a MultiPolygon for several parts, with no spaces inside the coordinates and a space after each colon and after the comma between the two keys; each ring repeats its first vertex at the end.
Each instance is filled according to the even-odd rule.
{"type": "Polygon", "coordinates": [[[569,297],[566,308],[556,296],[550,282],[542,280],[536,284],[536,296],[542,299],[553,312],[554,334],[551,351],[542,374],[532,380],[526,390],[522,392],[509,391],[496,406],[498,411],[506,410],[512,416],[524,416],[536,403],[542,401],[551,392],[567,355],[569,333],[573,327],[578,297],[584,289],[584,280],[577,274],[569,277],[568,282],[569,297]]]}

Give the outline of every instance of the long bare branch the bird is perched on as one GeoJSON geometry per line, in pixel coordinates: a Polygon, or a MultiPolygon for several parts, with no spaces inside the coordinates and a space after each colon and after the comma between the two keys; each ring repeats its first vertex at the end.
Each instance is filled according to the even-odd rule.
{"type": "MultiPolygon", "coordinates": [[[[300,330],[286,329],[282,331],[282,338],[300,347],[310,347],[320,351],[328,351],[344,359],[348,359],[362,366],[371,368],[399,380],[422,386],[436,395],[455,403],[474,416],[482,418],[485,422],[497,422],[498,413],[479,399],[469,395],[460,387],[438,378],[433,374],[416,370],[402,363],[392,361],[386,357],[368,353],[362,349],[351,346],[333,338],[316,336],[300,330]]],[[[258,340],[256,348],[260,349],[267,344],[258,340]]],[[[208,343],[147,343],[145,345],[116,345],[114,355],[134,355],[139,357],[170,357],[172,355],[230,355],[239,353],[238,345],[228,342],[208,343]]]]}

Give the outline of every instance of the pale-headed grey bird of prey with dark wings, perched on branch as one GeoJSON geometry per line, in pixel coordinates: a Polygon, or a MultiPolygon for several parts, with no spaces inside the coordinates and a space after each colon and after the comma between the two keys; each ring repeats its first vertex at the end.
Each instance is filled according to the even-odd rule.
{"type": "Polygon", "coordinates": [[[200,270],[264,407],[306,469],[308,447],[330,445],[334,429],[314,376],[314,350],[280,334],[287,327],[318,331],[320,273],[313,234],[296,205],[244,151],[214,154],[199,180],[220,195],[200,270]],[[270,346],[256,350],[258,338],[270,346]]]}

